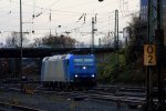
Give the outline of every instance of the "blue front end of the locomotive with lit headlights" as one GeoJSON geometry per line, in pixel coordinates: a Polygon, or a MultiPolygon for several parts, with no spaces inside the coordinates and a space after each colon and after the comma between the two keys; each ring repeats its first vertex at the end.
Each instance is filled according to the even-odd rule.
{"type": "Polygon", "coordinates": [[[76,85],[94,85],[96,78],[94,56],[74,56],[73,75],[76,85]]]}

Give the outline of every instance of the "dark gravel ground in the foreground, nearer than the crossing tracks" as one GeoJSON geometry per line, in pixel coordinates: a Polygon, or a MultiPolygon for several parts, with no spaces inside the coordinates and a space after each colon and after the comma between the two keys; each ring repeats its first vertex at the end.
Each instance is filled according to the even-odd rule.
{"type": "Polygon", "coordinates": [[[71,98],[58,94],[0,91],[0,102],[41,109],[41,111],[141,111],[129,109],[126,104],[117,107],[115,102],[83,99],[74,101],[71,98]]]}

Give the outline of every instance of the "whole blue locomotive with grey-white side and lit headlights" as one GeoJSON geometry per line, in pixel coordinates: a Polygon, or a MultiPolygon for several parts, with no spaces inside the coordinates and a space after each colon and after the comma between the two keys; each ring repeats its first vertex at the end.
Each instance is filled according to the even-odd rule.
{"type": "Polygon", "coordinates": [[[42,61],[41,81],[45,87],[95,85],[96,63],[93,54],[63,54],[45,57],[42,61]]]}

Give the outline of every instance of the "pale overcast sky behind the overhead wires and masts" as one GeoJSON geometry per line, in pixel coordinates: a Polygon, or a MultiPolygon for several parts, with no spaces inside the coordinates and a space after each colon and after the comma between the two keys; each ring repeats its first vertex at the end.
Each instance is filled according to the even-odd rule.
{"type": "MultiPolygon", "coordinates": [[[[19,1],[0,0],[0,41],[19,31],[19,1]]],[[[114,31],[114,11],[120,11],[120,30],[127,26],[132,13],[139,10],[139,0],[22,0],[23,32],[29,39],[51,33],[71,32],[76,40],[91,41],[92,18],[96,16],[95,37],[114,31]],[[84,13],[84,16],[83,16],[84,13]],[[34,18],[32,16],[34,14],[34,18]],[[82,18],[81,18],[82,17],[82,18]],[[32,23],[33,22],[33,23],[32,23]],[[61,26],[61,28],[59,28],[61,26]],[[34,33],[32,34],[32,30],[34,33]]],[[[95,38],[95,40],[97,40],[95,38]]]]}

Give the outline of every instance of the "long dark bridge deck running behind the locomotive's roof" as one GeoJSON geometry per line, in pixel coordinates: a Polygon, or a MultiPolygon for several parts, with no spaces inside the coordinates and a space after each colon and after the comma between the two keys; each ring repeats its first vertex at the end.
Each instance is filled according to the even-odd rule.
{"type": "MultiPolygon", "coordinates": [[[[53,54],[100,54],[113,52],[113,48],[22,48],[22,58],[44,58],[53,54]]],[[[20,48],[1,48],[0,58],[20,58],[20,48]]]]}

